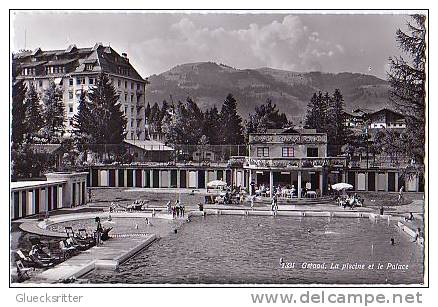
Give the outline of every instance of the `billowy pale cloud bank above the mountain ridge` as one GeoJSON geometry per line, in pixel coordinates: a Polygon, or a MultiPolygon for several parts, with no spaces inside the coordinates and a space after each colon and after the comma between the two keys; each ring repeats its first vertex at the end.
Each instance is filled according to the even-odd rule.
{"type": "Polygon", "coordinates": [[[131,46],[149,71],[195,61],[216,61],[239,68],[269,66],[308,71],[344,53],[344,48],[325,41],[304,25],[299,16],[286,16],[266,25],[249,24],[240,29],[208,28],[184,17],[169,26],[164,37],[131,46]]]}

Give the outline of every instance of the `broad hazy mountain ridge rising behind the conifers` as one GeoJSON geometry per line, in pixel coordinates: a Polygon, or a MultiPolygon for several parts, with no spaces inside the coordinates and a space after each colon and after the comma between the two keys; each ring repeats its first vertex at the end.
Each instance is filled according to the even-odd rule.
{"type": "Polygon", "coordinates": [[[232,93],[245,118],[267,98],[288,117],[302,117],[314,92],[333,92],[336,88],[344,95],[346,110],[379,109],[387,106],[389,89],[387,81],[359,73],[300,73],[267,67],[236,69],[212,62],[178,65],[150,76],[149,82],[146,97],[151,104],[183,101],[190,96],[203,109],[213,105],[220,109],[227,94],[232,93]]]}

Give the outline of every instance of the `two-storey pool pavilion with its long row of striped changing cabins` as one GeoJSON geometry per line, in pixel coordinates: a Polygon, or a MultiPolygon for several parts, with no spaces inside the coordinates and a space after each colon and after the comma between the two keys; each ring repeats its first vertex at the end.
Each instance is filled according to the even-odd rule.
{"type": "MultiPolygon", "coordinates": [[[[423,192],[423,178],[405,180],[399,165],[382,162],[351,163],[346,156],[327,156],[327,135],[314,129],[269,129],[249,135],[247,155],[209,163],[171,161],[119,165],[93,165],[88,169],[90,187],[204,189],[209,181],[250,191],[256,185],[292,186],[323,196],[328,186],[348,182],[354,191],[423,192]]],[[[297,193],[300,197],[301,193],[297,193]]]]}

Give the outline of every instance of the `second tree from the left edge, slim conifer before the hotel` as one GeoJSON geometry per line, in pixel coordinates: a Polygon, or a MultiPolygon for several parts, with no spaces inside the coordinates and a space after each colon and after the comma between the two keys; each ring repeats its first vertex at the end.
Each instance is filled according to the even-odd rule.
{"type": "Polygon", "coordinates": [[[26,140],[28,142],[40,141],[41,128],[44,126],[44,119],[42,117],[40,97],[32,83],[26,92],[24,104],[26,108],[24,125],[26,140]]]}

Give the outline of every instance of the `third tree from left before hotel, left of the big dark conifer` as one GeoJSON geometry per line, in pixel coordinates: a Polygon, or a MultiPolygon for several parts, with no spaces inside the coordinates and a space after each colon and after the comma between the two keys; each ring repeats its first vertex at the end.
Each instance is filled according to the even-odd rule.
{"type": "Polygon", "coordinates": [[[43,93],[44,136],[49,143],[59,143],[64,134],[65,108],[62,90],[50,80],[49,87],[43,93]]]}

